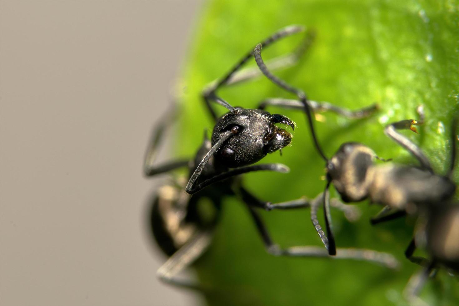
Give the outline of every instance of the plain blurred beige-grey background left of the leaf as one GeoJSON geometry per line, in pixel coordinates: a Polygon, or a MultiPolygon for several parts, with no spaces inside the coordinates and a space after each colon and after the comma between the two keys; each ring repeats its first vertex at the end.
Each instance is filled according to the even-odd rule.
{"type": "Polygon", "coordinates": [[[155,277],[141,168],[202,3],[0,6],[0,304],[194,303],[155,277]]]}

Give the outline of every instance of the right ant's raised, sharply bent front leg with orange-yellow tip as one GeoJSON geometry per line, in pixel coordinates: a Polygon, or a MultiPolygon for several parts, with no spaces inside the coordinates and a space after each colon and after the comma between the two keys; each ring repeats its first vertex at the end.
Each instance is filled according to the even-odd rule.
{"type": "Polygon", "coordinates": [[[398,145],[402,146],[405,150],[408,150],[416,159],[420,162],[421,166],[433,173],[431,164],[429,159],[424,155],[420,147],[415,145],[411,140],[407,137],[399,134],[396,130],[397,129],[409,129],[415,133],[418,133],[416,128],[413,125],[420,125],[424,123],[424,111],[422,106],[418,106],[417,108],[418,114],[420,115],[420,120],[416,121],[414,119],[406,119],[397,122],[390,123],[389,125],[384,128],[384,133],[389,136],[392,140],[394,140],[398,145]]]}

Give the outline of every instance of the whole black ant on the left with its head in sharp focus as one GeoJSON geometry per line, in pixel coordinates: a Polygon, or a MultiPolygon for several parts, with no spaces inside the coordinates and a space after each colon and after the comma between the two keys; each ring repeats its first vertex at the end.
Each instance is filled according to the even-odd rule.
{"type": "MultiPolygon", "coordinates": [[[[283,28],[265,39],[261,45],[267,47],[278,39],[302,30],[303,28],[298,26],[283,28]]],[[[298,50],[304,49],[304,45],[303,43],[298,50]]],[[[281,63],[282,65],[279,66],[284,67],[291,63],[292,58],[297,58],[301,53],[298,50],[291,56],[276,59],[274,62],[281,63]],[[285,60],[285,58],[289,60],[285,60]]],[[[312,206],[312,211],[316,211],[318,204],[322,202],[322,195],[313,201],[298,199],[273,204],[259,200],[252,195],[242,186],[241,178],[237,177],[243,173],[261,170],[288,172],[289,169],[282,164],[250,165],[268,153],[284,148],[291,142],[291,134],[278,128],[275,123],[289,125],[292,129],[295,128],[294,122],[283,115],[270,114],[261,109],[235,108],[216,95],[218,88],[252,78],[257,74],[253,71],[236,73],[254,54],[256,54],[255,51],[250,51],[219,82],[214,82],[204,91],[203,96],[207,109],[216,123],[212,138],[204,138],[193,159],[168,162],[160,166],[154,165],[158,145],[165,127],[172,121],[171,118],[166,117],[163,122],[160,122],[151,138],[144,165],[146,176],[154,176],[179,167],[188,167],[189,180],[185,191],[193,195],[190,197],[190,195],[181,192],[183,184],[175,182],[175,184],[163,186],[153,201],[151,229],[158,245],[170,256],[157,273],[159,278],[168,283],[192,289],[203,289],[195,284],[180,281],[175,276],[207,249],[213,235],[213,229],[218,222],[222,198],[230,195],[238,195],[244,201],[270,254],[276,256],[329,257],[326,250],[316,246],[280,249],[272,241],[261,217],[254,209],[293,209],[312,206]],[[210,101],[215,101],[224,106],[229,110],[229,113],[217,119],[210,101]],[[212,203],[214,208],[212,215],[204,216],[199,211],[198,202],[202,198],[207,198],[212,203]]],[[[317,106],[320,109],[319,103],[317,106]]],[[[322,106],[322,109],[329,108],[327,105],[322,106]]],[[[336,109],[340,112],[339,108],[336,109]]],[[[336,109],[332,110],[336,111],[336,109]]],[[[332,200],[331,204],[344,211],[349,219],[352,218],[350,216],[355,216],[355,207],[346,206],[337,200],[332,200]]],[[[373,261],[386,267],[397,266],[397,261],[392,255],[373,250],[338,249],[335,258],[373,261]]]]}

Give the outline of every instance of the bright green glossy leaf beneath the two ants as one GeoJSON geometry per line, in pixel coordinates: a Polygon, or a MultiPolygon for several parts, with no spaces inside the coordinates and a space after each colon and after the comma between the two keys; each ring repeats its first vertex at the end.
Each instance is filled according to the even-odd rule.
{"type": "MultiPolygon", "coordinates": [[[[419,144],[438,173],[448,168],[449,129],[459,100],[458,1],[215,1],[206,3],[179,84],[182,109],[181,156],[192,156],[202,131],[213,123],[200,97],[206,83],[219,78],[251,48],[289,24],[314,28],[316,40],[297,66],[275,72],[303,89],[312,100],[357,109],[377,102],[381,110],[365,120],[324,113],[316,122],[319,142],[331,156],[346,141],[358,141],[394,162],[414,164],[405,150],[388,139],[386,123],[416,118],[424,105],[426,121],[419,133],[404,132],[419,144]]],[[[266,50],[263,58],[292,49],[301,35],[266,50]]],[[[251,61],[251,65],[254,61],[251,61]]],[[[267,97],[291,95],[266,78],[220,91],[233,106],[256,107],[267,97]]],[[[215,106],[223,114],[223,107],[215,106]]],[[[288,174],[250,173],[244,184],[264,200],[280,202],[315,197],[325,187],[324,161],[312,145],[304,115],[269,109],[297,122],[291,146],[283,155],[263,159],[282,162],[288,174]]],[[[459,178],[458,171],[454,177],[459,178]]],[[[332,192],[332,195],[334,193],[332,192]]],[[[285,258],[267,254],[240,200],[225,198],[213,245],[196,263],[200,280],[225,295],[209,296],[210,305],[405,305],[402,291],[420,267],[403,257],[414,230],[413,219],[372,227],[369,217],[381,207],[358,206],[363,216],[349,223],[332,217],[338,247],[387,251],[402,262],[391,271],[367,262],[285,258]]],[[[261,212],[273,239],[283,247],[321,245],[309,210],[261,212]]],[[[322,213],[320,213],[322,215],[322,213]]],[[[323,218],[320,219],[323,223],[323,218]]],[[[421,297],[430,305],[459,303],[457,279],[440,271],[421,297]]]]}

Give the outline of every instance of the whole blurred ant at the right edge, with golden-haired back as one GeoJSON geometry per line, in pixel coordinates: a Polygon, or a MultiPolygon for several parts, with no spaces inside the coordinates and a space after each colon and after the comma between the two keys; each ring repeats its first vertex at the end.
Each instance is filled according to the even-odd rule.
{"type": "MultiPolygon", "coordinates": [[[[409,301],[417,299],[417,294],[431,272],[439,267],[447,267],[459,272],[459,203],[451,199],[456,184],[451,176],[454,168],[457,135],[457,119],[454,119],[451,132],[453,145],[450,168],[447,175],[434,173],[429,159],[422,150],[397,129],[410,129],[417,133],[414,125],[424,122],[422,106],[417,109],[420,120],[407,119],[386,126],[385,134],[408,150],[420,163],[420,167],[385,164],[376,166],[376,156],[369,147],[359,143],[345,143],[327,162],[327,186],[325,203],[330,184],[335,186],[344,202],[358,202],[369,198],[371,202],[385,207],[370,221],[381,223],[402,217],[406,214],[419,215],[420,228],[411,240],[405,256],[412,262],[425,266],[421,273],[414,275],[404,290],[409,301]],[[414,257],[417,246],[424,247],[430,259],[414,257]]],[[[326,207],[326,206],[325,206],[326,207]]],[[[325,247],[332,254],[335,240],[330,226],[325,237],[320,231],[325,247]]],[[[314,220],[313,220],[314,222],[314,220]]]]}

